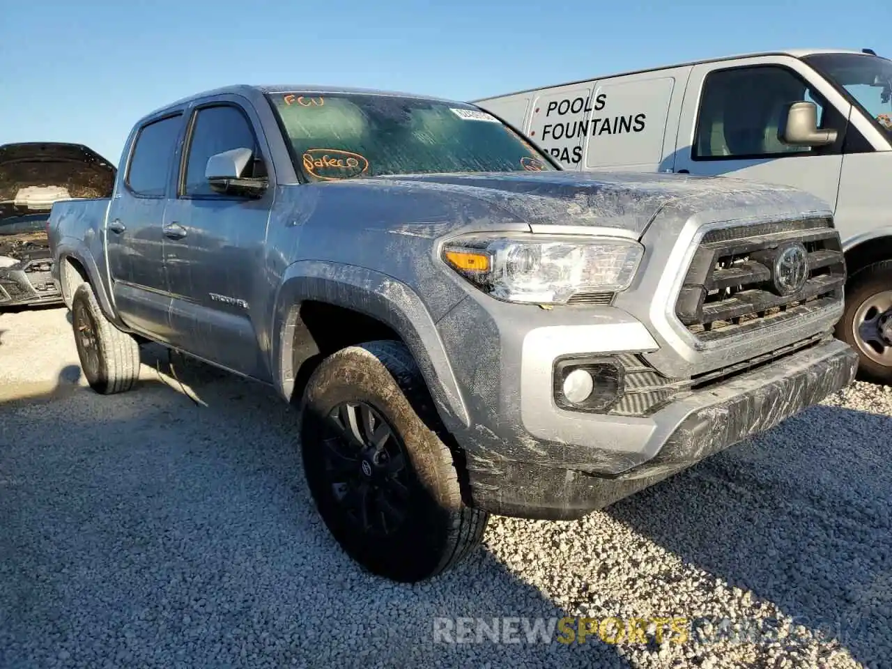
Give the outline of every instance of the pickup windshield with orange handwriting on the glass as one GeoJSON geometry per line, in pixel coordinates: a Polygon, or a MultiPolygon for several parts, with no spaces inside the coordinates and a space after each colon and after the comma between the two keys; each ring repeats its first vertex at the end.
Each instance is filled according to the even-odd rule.
{"type": "Polygon", "coordinates": [[[268,95],[310,181],[555,169],[511,128],[464,103],[395,95],[268,95]]]}

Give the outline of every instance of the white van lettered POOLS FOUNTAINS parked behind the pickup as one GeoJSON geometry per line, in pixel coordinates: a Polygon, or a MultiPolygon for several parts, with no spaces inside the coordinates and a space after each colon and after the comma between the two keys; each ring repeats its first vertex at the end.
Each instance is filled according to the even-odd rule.
{"type": "Polygon", "coordinates": [[[892,61],[870,49],[748,54],[475,103],[565,169],[731,176],[829,202],[844,241],[837,336],[892,383],[892,61]]]}

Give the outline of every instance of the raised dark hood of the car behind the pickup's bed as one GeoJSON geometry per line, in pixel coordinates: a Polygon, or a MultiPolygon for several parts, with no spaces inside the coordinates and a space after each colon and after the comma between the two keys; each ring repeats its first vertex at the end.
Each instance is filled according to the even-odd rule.
{"type": "Polygon", "coordinates": [[[45,212],[53,202],[108,197],[115,167],[84,145],[26,142],[0,146],[0,231],[21,216],[45,212]]]}

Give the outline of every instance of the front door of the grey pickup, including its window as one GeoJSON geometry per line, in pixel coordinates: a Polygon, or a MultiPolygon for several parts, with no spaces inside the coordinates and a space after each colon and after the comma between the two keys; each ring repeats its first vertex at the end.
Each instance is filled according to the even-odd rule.
{"type": "Polygon", "coordinates": [[[275,188],[259,198],[220,194],[205,178],[208,159],[251,149],[251,174],[268,176],[260,121],[233,96],[193,111],[175,197],[164,212],[164,260],[170,291],[171,338],[178,348],[246,376],[268,380],[257,333],[262,298],[267,222],[275,188]],[[257,124],[257,125],[255,125],[257,124]]]}

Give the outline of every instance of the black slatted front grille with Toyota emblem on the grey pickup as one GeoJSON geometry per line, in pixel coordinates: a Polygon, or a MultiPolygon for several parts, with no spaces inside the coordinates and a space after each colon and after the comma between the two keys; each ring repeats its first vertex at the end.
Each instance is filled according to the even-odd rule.
{"type": "Polygon", "coordinates": [[[712,230],[691,261],[675,314],[699,341],[710,342],[830,307],[842,301],[845,278],[830,219],[712,230]],[[776,267],[790,247],[805,250],[801,285],[790,280],[797,278],[795,258],[776,267]]]}

